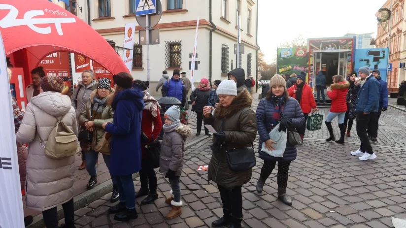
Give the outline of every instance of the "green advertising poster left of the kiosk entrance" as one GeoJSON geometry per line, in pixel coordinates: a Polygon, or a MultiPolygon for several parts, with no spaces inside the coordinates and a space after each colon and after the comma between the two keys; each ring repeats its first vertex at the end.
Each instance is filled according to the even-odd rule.
{"type": "Polygon", "coordinates": [[[307,73],[306,47],[278,48],[277,66],[278,74],[307,73]]]}

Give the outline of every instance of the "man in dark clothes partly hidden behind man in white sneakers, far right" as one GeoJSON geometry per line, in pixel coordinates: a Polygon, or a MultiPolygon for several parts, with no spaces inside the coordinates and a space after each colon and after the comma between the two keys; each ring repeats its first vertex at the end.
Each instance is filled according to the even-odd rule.
{"type": "Polygon", "coordinates": [[[372,76],[378,80],[380,87],[379,87],[379,107],[378,112],[374,116],[375,118],[371,119],[370,124],[368,125],[368,135],[371,137],[372,142],[378,141],[376,137],[378,136],[378,128],[379,128],[379,117],[381,112],[388,110],[388,85],[384,80],[382,80],[380,76],[380,71],[378,69],[372,70],[372,76]]]}

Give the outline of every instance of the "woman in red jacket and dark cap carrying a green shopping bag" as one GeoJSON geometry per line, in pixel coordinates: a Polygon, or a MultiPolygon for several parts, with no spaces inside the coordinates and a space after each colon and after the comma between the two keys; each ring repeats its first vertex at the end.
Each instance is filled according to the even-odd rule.
{"type": "Polygon", "coordinates": [[[305,75],[299,75],[296,79],[296,83],[288,89],[289,97],[295,98],[299,102],[303,114],[305,115],[305,123],[302,127],[296,129],[302,140],[305,137],[307,116],[310,112],[314,113],[319,110],[316,107],[316,101],[314,100],[310,86],[305,83],[305,77],[305,75]]]}

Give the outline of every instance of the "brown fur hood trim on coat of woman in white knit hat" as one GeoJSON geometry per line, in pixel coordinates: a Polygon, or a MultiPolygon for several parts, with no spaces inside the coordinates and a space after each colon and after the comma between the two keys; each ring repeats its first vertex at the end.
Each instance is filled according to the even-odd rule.
{"type": "Polygon", "coordinates": [[[223,105],[219,105],[214,111],[214,115],[219,119],[228,118],[243,108],[251,107],[251,104],[251,94],[248,92],[248,90],[242,90],[237,97],[234,98],[230,106],[223,107],[223,105]]]}

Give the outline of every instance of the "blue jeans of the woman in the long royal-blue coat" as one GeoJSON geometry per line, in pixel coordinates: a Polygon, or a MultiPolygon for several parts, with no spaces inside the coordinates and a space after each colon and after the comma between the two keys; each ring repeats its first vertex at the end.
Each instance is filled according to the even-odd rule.
{"type": "Polygon", "coordinates": [[[135,188],[133,175],[116,176],[120,202],[126,202],[128,209],[135,208],[135,188]]]}

